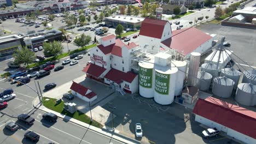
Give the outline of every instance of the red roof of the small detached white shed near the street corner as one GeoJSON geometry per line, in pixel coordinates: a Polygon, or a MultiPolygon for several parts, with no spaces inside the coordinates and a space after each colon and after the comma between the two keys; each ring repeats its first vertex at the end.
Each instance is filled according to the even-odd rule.
{"type": "Polygon", "coordinates": [[[75,91],[75,92],[77,92],[77,93],[79,93],[79,94],[81,94],[84,97],[89,98],[89,99],[95,97],[95,95],[96,95],[96,93],[94,93],[92,91],[90,93],[86,94],[86,92],[88,91],[89,88],[84,87],[82,85],[79,85],[79,83],[76,83],[74,81],[73,81],[70,89],[72,89],[73,91],[75,91]]]}

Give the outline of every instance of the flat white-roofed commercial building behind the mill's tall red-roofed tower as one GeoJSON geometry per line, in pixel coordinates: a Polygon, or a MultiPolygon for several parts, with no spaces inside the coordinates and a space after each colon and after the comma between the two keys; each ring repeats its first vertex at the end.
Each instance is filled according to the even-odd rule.
{"type": "Polygon", "coordinates": [[[134,17],[134,16],[109,16],[105,17],[105,24],[113,27],[117,27],[120,23],[124,26],[124,28],[141,28],[142,21],[144,20],[143,17],[134,17]]]}

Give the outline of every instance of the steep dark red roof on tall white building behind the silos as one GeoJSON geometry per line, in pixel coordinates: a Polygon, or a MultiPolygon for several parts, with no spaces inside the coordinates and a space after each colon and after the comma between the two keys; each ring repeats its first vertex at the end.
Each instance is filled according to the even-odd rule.
{"type": "Polygon", "coordinates": [[[161,39],[162,32],[164,31],[167,22],[168,21],[146,18],[142,22],[139,35],[161,39]]]}

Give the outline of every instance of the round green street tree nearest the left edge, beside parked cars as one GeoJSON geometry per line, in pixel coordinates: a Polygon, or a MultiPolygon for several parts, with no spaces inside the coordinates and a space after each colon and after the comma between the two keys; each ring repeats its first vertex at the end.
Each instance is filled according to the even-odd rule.
{"type": "Polygon", "coordinates": [[[27,47],[21,47],[20,50],[15,50],[13,57],[15,59],[14,63],[28,65],[33,62],[33,60],[36,58],[36,55],[33,51],[27,49],[27,47]]]}

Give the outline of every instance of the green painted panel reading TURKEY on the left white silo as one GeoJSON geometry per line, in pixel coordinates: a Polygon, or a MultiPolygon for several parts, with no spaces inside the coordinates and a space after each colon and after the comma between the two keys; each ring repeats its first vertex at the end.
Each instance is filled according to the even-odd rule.
{"type": "Polygon", "coordinates": [[[152,88],[153,69],[139,67],[139,85],[146,88],[152,88]]]}

